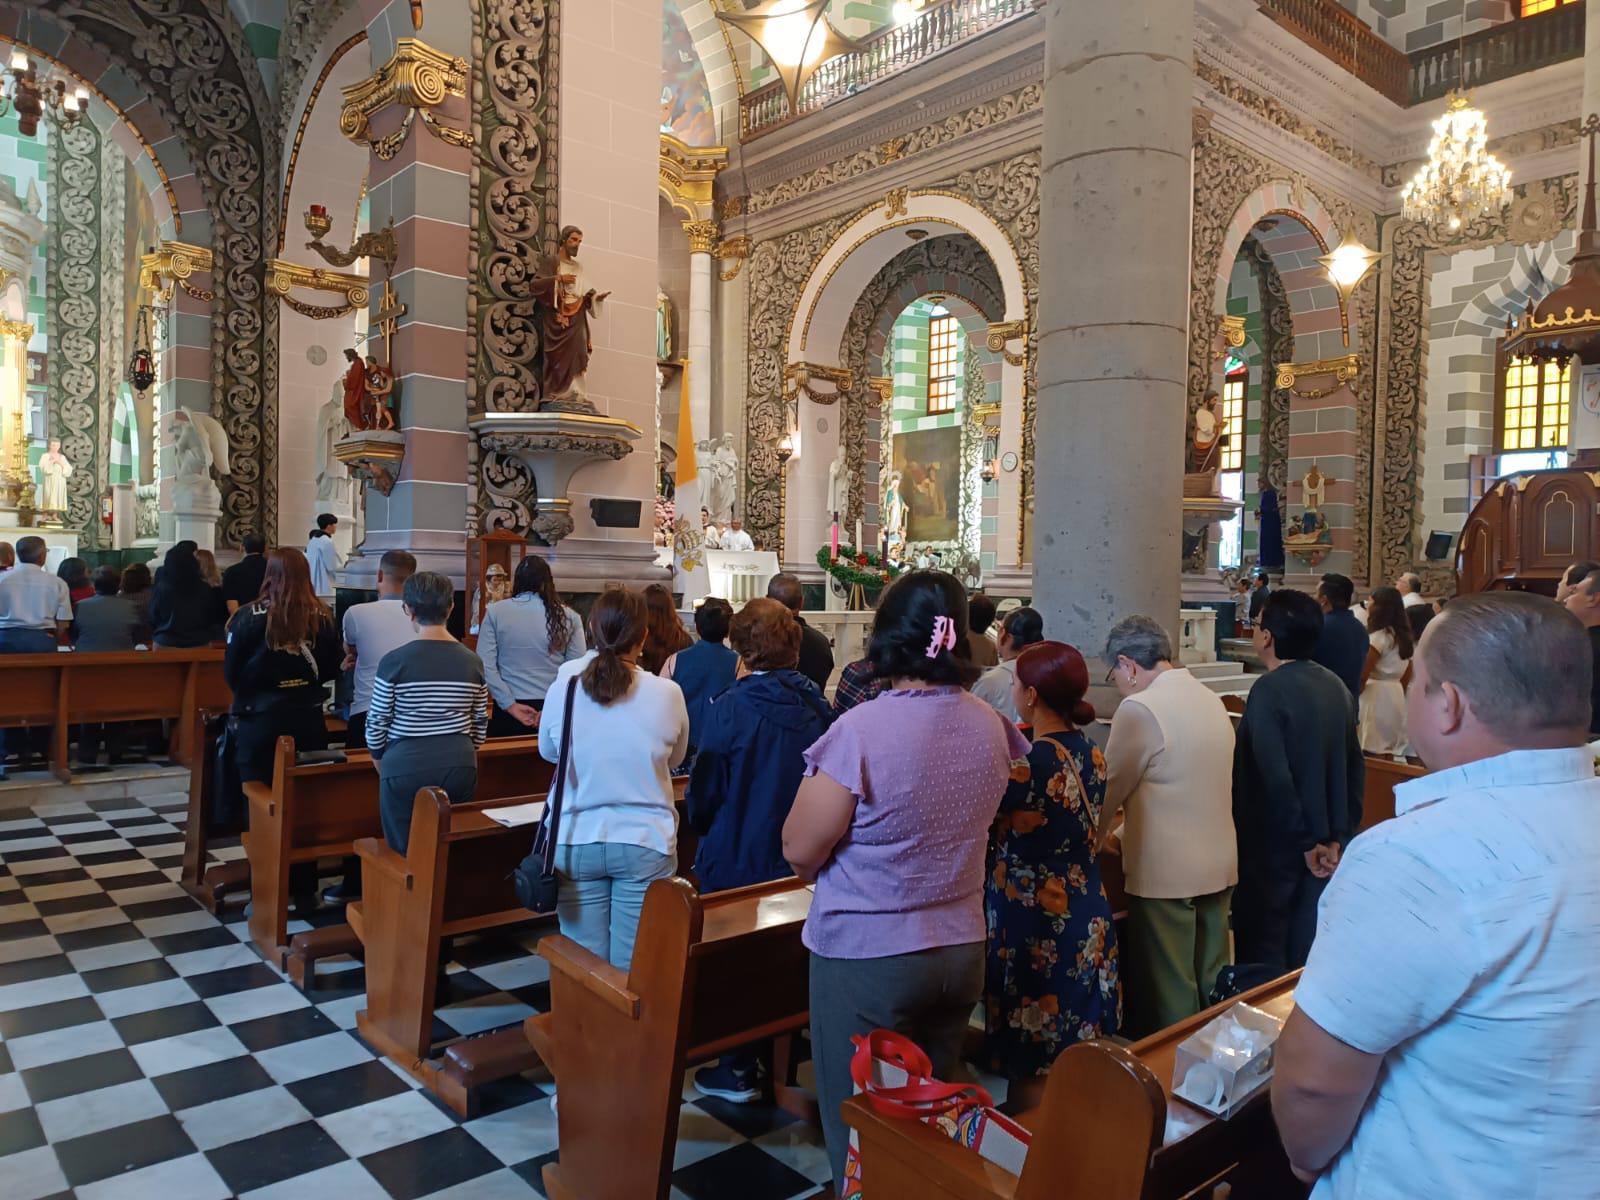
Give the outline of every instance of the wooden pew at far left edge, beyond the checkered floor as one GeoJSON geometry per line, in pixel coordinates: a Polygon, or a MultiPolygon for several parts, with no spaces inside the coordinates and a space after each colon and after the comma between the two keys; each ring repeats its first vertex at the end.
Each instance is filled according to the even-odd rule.
{"type": "Polygon", "coordinates": [[[50,770],[72,779],[69,738],[74,725],[174,720],[174,757],[192,766],[198,746],[194,714],[232,702],[222,678],[222,651],[128,650],[107,654],[53,653],[0,658],[0,728],[50,725],[50,770]]]}

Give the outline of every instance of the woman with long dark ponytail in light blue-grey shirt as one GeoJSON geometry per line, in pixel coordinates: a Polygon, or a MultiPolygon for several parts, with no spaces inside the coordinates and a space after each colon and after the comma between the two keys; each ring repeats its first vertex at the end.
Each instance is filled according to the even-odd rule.
{"type": "Polygon", "coordinates": [[[584,653],[584,626],[562,603],[550,565],[538,554],[517,563],[509,600],[496,600],[478,626],[483,680],[494,698],[490,738],[526,738],[563,662],[584,653]]]}

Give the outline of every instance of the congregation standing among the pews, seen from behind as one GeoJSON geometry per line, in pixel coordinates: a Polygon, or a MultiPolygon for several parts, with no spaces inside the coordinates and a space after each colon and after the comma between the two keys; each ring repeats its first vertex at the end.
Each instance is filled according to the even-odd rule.
{"type": "MultiPolygon", "coordinates": [[[[451,581],[398,550],[378,598],[336,621],[331,530],[318,522],[307,552],[250,539],[221,574],[179,542],[154,581],[78,560],[53,574],[24,538],[0,573],[0,653],[222,642],[232,750],[256,782],[272,781],[278,738],[330,746],[328,686],[347,675],[344,746],[371,752],[400,853],[419,789],[469,802],[485,739],[534,738],[565,773],[560,930],[621,970],[656,880],[811,882],[810,1043],[838,1186],[851,1038],[874,1029],[960,1078],[981,1014],[978,1066],[1021,1112],[1067,1046],[1144,1037],[1304,966],[1274,1106],[1296,1171],[1338,1197],[1374,1195],[1362,1181],[1378,1170],[1422,1194],[1483,1194],[1462,1181],[1531,1136],[1506,1130],[1493,1098],[1600,1066],[1574,1050],[1600,994],[1573,984],[1600,950],[1586,749],[1600,565],[1574,565],[1558,603],[1493,594],[1442,611],[1416,576],[1360,610],[1342,574],[1315,595],[1262,579],[1248,626],[1264,674],[1237,725],[1171,630],[1130,614],[1086,648],[1120,696],[1106,723],[1085,648],[1053,640],[1037,608],[997,619],[938,570],[883,590],[866,656],[835,682],[792,574],[738,611],[702,602],[691,635],[659,584],[608,587],[579,618],[528,555],[469,648],[448,632],[451,581]],[[1357,837],[1366,755],[1413,749],[1435,774],[1357,837]],[[693,862],[678,861],[674,776],[688,776],[693,862]],[[1530,957],[1534,944],[1549,954],[1530,957]],[[1416,1106],[1437,1126],[1426,1146],[1408,1133],[1416,1106]]],[[[37,752],[10,733],[19,757],[37,752]]],[[[118,755],[112,728],[78,741],[80,758],[118,755]]],[[[355,862],[323,898],[315,885],[314,867],[291,872],[296,909],[354,899],[355,862]]],[[[762,1072],[744,1046],[694,1083],[744,1104],[762,1072]]],[[[1576,1136],[1581,1091],[1552,1088],[1549,1136],[1576,1136]]]]}

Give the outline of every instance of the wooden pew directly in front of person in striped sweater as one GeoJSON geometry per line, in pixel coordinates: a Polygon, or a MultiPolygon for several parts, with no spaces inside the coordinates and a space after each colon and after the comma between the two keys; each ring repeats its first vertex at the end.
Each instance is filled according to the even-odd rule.
{"type": "MultiPolygon", "coordinates": [[[[478,790],[483,800],[542,792],[550,765],[539,757],[536,738],[506,738],[478,749],[478,790]]],[[[355,853],[355,842],[382,837],[378,816],[378,770],[366,750],[350,750],[342,763],[294,765],[294,741],[278,738],[272,787],[245,784],[250,832],[250,938],[261,955],[310,986],[315,962],[360,949],[349,925],[288,936],[290,867],[355,853]]]]}

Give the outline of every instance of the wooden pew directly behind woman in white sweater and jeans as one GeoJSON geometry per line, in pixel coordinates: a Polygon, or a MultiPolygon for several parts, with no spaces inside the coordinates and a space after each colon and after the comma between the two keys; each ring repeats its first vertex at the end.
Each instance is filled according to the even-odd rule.
{"type": "Polygon", "coordinates": [[[808,1021],[810,910],[794,878],[710,896],[670,878],[650,885],[626,973],[568,938],[539,942],[550,1011],[526,1029],[562,1096],[550,1200],[666,1200],[685,1069],[808,1021]]]}

